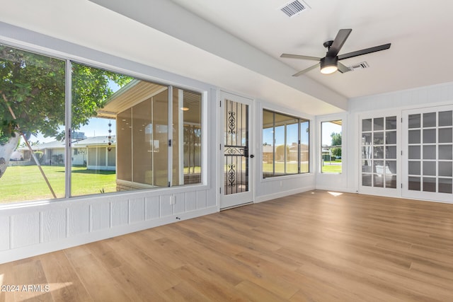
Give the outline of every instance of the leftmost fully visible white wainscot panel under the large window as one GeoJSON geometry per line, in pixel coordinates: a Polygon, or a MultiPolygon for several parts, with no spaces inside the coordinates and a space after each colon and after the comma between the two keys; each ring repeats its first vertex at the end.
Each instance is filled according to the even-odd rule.
{"type": "Polygon", "coordinates": [[[40,243],[40,213],[11,216],[11,248],[40,243]]]}

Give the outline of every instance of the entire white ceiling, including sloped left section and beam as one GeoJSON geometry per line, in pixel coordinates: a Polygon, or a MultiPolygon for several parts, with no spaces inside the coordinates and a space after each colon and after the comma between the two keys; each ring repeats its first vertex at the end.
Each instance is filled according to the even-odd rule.
{"type": "Polygon", "coordinates": [[[453,1],[306,0],[311,8],[293,18],[278,9],[286,3],[16,0],[2,6],[0,21],[310,115],[346,110],[348,98],[453,80],[453,1]],[[352,28],[340,54],[391,48],[342,61],[368,69],[292,77],[316,62],[280,54],[323,57],[323,42],[340,28],[352,28]]]}

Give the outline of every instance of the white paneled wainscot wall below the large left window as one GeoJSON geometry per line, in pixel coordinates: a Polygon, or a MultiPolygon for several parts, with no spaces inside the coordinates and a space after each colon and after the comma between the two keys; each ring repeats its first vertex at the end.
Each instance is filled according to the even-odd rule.
{"type": "Polygon", "coordinates": [[[35,203],[0,211],[0,262],[218,211],[206,186],[35,203]]]}

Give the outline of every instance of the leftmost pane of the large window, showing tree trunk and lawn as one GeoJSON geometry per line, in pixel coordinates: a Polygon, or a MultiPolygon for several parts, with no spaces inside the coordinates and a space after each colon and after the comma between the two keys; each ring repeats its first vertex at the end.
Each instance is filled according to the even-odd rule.
{"type": "Polygon", "coordinates": [[[64,60],[0,45],[0,203],[64,197],[64,76],[64,60]]]}

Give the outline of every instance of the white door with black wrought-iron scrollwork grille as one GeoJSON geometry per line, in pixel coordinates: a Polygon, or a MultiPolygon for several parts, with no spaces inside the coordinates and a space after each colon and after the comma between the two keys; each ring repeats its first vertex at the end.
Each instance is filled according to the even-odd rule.
{"type": "Polygon", "coordinates": [[[223,112],[220,208],[227,209],[253,202],[252,101],[222,92],[220,106],[223,112]]]}

